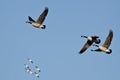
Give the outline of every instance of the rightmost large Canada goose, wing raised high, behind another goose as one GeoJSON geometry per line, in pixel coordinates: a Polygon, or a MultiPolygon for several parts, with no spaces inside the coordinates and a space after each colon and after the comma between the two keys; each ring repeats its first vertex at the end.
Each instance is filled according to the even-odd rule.
{"type": "Polygon", "coordinates": [[[105,52],[107,54],[111,54],[112,50],[108,49],[108,48],[109,48],[109,46],[111,44],[112,38],[113,38],[113,31],[110,30],[109,34],[108,34],[108,36],[107,36],[107,38],[106,38],[106,40],[104,42],[104,44],[102,46],[98,46],[98,45],[94,44],[93,46],[98,47],[98,49],[91,50],[91,51],[97,51],[97,52],[101,52],[102,51],[102,52],[105,52]]]}

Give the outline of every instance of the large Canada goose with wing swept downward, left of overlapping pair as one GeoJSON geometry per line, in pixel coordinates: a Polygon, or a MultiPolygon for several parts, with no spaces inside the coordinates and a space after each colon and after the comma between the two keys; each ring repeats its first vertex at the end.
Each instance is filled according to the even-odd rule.
{"type": "Polygon", "coordinates": [[[86,51],[94,42],[96,44],[99,44],[101,41],[98,36],[81,36],[83,38],[87,38],[87,42],[84,44],[83,48],[80,50],[79,54],[82,54],[84,51],[86,51]]]}

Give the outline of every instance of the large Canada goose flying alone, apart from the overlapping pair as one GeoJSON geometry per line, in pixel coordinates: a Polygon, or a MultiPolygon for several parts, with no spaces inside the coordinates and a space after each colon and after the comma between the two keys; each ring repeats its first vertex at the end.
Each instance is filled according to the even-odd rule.
{"type": "Polygon", "coordinates": [[[42,23],[44,22],[47,14],[48,14],[48,8],[46,7],[45,10],[42,12],[42,14],[39,16],[39,18],[37,19],[37,21],[32,19],[30,16],[28,16],[29,21],[26,21],[26,23],[30,23],[32,24],[32,26],[36,28],[45,29],[46,25],[43,25],[42,23]]]}

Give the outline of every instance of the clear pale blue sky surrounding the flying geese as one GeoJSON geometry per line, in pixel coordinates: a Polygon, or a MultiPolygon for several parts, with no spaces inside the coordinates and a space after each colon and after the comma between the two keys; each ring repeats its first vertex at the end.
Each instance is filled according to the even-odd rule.
{"type": "Polygon", "coordinates": [[[120,80],[120,0],[1,0],[0,80],[120,80]],[[49,8],[37,29],[25,22],[49,8]],[[78,52],[98,35],[102,45],[112,29],[112,54],[78,52]],[[24,70],[27,58],[40,66],[40,78],[24,70]]]}

